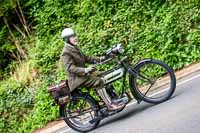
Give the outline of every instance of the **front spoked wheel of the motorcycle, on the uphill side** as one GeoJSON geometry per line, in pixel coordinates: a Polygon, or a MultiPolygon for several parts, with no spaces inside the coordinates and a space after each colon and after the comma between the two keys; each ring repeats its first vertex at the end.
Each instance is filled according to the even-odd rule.
{"type": "Polygon", "coordinates": [[[130,82],[133,93],[148,103],[161,103],[168,100],[176,88],[173,70],[159,60],[146,60],[134,68],[136,74],[130,82]]]}

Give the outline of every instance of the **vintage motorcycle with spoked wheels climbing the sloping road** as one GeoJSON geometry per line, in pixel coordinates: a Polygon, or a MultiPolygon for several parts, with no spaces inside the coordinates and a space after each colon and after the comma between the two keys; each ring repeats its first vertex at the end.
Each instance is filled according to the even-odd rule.
{"type": "Polygon", "coordinates": [[[168,65],[154,59],[143,59],[133,65],[127,61],[127,56],[122,55],[123,52],[124,48],[121,44],[117,44],[105,52],[107,57],[116,56],[110,56],[111,58],[95,66],[117,58],[118,66],[99,76],[103,79],[111,99],[124,106],[109,111],[102,100],[97,100],[90,93],[76,89],[70,93],[70,96],[66,94],[67,98],[70,97],[69,101],[60,104],[60,115],[69,127],[78,132],[88,132],[96,128],[102,119],[122,111],[133,99],[136,99],[138,104],[141,101],[158,104],[172,96],[176,88],[176,78],[168,65]],[[120,92],[113,86],[113,82],[117,80],[122,80],[120,92]],[[126,87],[127,82],[129,88],[126,87]]]}

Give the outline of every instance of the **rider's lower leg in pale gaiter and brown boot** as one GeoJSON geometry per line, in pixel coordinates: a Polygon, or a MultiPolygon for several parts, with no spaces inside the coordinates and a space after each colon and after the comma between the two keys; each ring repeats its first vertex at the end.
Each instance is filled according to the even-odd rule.
{"type": "Polygon", "coordinates": [[[106,92],[105,88],[99,89],[97,92],[99,93],[102,100],[105,102],[109,111],[117,110],[124,106],[123,104],[112,103],[112,100],[110,96],[108,95],[108,93],[106,92]]]}

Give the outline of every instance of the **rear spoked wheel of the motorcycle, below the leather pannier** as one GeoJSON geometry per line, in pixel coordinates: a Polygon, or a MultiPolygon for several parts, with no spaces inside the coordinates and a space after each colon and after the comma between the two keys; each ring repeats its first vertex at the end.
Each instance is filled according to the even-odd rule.
{"type": "Polygon", "coordinates": [[[97,117],[96,104],[91,99],[83,96],[74,96],[73,100],[64,107],[64,120],[69,127],[78,132],[88,132],[99,124],[100,121],[90,123],[97,117]]]}

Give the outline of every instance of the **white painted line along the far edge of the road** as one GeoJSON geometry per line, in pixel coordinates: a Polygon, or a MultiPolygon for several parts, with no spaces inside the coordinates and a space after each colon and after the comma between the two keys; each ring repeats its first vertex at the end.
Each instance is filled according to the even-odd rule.
{"type": "MultiPolygon", "coordinates": [[[[184,81],[181,81],[181,82],[179,82],[179,83],[176,84],[176,87],[179,86],[179,85],[182,85],[182,84],[184,84],[184,83],[186,83],[186,82],[189,82],[189,81],[191,81],[191,80],[194,80],[194,79],[196,79],[196,78],[199,78],[199,77],[200,77],[200,74],[199,74],[199,75],[196,75],[196,76],[194,76],[194,77],[192,77],[192,78],[186,79],[186,80],[184,80],[184,81]]],[[[157,94],[159,94],[159,93],[162,93],[163,91],[166,91],[166,90],[167,90],[167,89],[164,89],[164,90],[161,90],[161,91],[159,91],[159,92],[156,92],[156,93],[152,94],[152,96],[153,96],[153,95],[157,95],[157,94]]],[[[127,106],[131,106],[131,105],[136,104],[136,103],[137,103],[137,101],[131,102],[131,103],[127,104],[127,106]]],[[[67,128],[67,129],[65,129],[65,130],[63,130],[63,131],[61,131],[61,132],[59,132],[59,133],[66,133],[66,132],[68,132],[68,131],[70,131],[70,130],[72,130],[72,129],[71,129],[71,128],[67,128]]]]}

